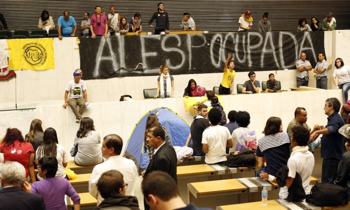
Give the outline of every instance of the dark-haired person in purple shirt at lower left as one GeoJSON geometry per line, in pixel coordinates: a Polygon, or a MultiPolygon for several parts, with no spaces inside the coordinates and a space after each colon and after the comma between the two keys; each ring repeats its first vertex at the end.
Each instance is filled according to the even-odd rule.
{"type": "Polygon", "coordinates": [[[74,210],[80,209],[80,197],[72,184],[65,178],[56,176],[58,162],[54,156],[44,156],[39,160],[38,172],[44,180],[36,181],[32,186],[25,182],[27,192],[43,196],[46,209],[66,210],[65,195],[74,203],[74,210]]]}

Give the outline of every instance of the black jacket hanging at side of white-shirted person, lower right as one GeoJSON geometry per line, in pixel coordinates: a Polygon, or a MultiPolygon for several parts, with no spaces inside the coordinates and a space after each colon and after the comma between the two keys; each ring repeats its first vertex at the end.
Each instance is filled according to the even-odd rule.
{"type": "MultiPolygon", "coordinates": [[[[280,187],[285,186],[285,183],[288,177],[288,171],[289,171],[289,168],[286,165],[279,168],[279,170],[277,171],[276,180],[280,187]]],[[[296,173],[293,183],[288,188],[287,201],[288,202],[300,201],[305,198],[306,198],[306,194],[304,191],[304,187],[302,186],[302,179],[299,173],[296,173]]]]}

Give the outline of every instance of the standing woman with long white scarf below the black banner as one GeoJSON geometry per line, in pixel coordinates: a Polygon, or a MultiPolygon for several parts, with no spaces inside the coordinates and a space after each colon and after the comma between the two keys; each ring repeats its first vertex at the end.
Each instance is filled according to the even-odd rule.
{"type": "Polygon", "coordinates": [[[174,97],[174,77],[170,75],[170,70],[167,65],[161,65],[159,68],[157,94],[154,98],[159,97],[174,97]]]}

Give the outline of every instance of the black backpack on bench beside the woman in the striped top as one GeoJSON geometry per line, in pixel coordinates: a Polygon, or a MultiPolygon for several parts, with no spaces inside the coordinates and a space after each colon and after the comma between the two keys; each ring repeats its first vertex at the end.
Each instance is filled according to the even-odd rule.
{"type": "Polygon", "coordinates": [[[230,152],[227,160],[223,163],[228,167],[252,167],[255,168],[255,153],[251,149],[241,150],[237,154],[230,152]]]}

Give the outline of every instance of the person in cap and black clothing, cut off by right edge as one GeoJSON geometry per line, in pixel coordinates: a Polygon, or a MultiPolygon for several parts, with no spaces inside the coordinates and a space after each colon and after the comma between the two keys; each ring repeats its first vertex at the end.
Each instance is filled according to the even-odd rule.
{"type": "Polygon", "coordinates": [[[334,183],[345,187],[350,197],[350,124],[340,127],[339,133],[345,136],[345,148],[347,151],[342,154],[334,183]]]}

